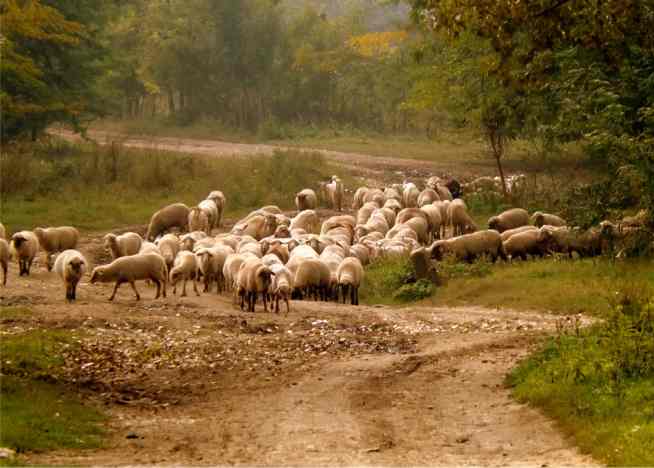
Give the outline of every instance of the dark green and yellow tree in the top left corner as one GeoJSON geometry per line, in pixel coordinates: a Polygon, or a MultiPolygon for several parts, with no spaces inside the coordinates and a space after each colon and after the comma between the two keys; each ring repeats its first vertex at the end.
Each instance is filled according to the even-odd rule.
{"type": "Polygon", "coordinates": [[[26,133],[35,139],[53,122],[80,128],[100,112],[95,84],[104,51],[89,32],[100,9],[77,3],[6,0],[0,6],[3,142],[26,133]]]}

